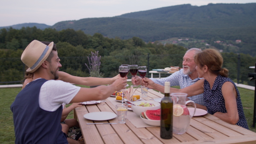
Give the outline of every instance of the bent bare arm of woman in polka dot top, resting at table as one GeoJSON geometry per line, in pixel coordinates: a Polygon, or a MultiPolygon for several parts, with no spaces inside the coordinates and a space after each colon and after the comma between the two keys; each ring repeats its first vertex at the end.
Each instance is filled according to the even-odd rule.
{"type": "Polygon", "coordinates": [[[225,82],[221,88],[225,100],[226,113],[215,112],[214,116],[230,124],[236,124],[239,121],[239,114],[236,104],[237,93],[235,86],[231,82],[225,82]]]}

